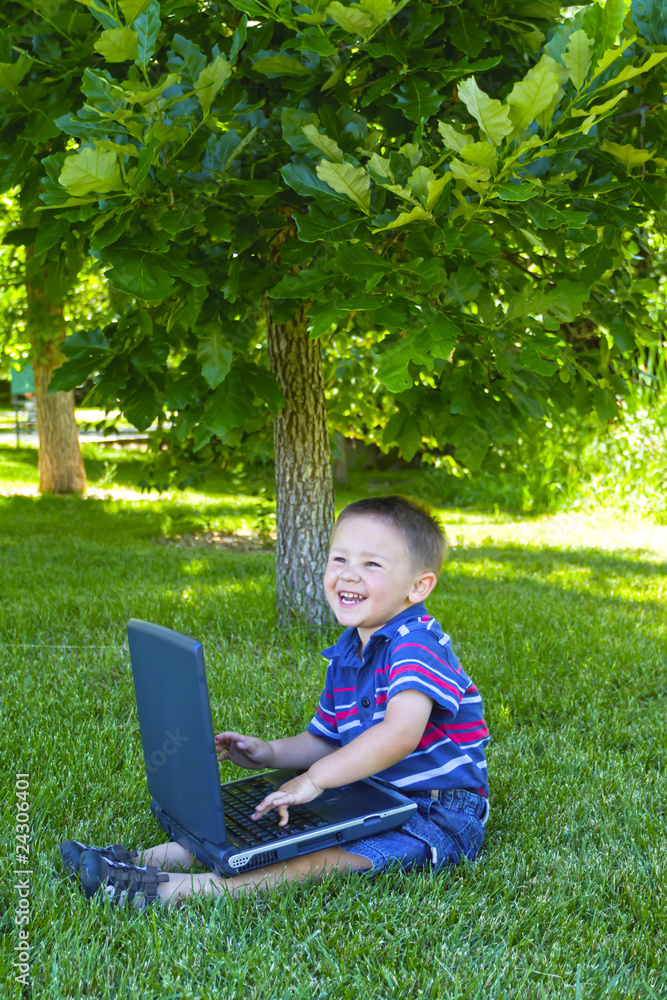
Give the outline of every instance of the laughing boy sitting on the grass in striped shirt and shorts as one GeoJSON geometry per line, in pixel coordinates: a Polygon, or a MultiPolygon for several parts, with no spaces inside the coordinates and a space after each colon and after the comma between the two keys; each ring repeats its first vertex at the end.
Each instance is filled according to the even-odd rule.
{"type": "Polygon", "coordinates": [[[344,850],[326,848],[230,878],[190,873],[192,855],[174,843],[139,857],[120,845],[67,841],[63,861],[71,875],[79,871],[86,895],[141,909],[158,898],[268,890],[336,869],[373,874],[391,865],[438,869],[473,860],[488,816],[489,735],[477,689],[423,604],[445,548],[440,524],[413,500],[372,497],[346,507],[334,527],[324,590],[347,627],[324,650],[330,663],[316,715],[305,732],[286,739],[231,731],[215,737],[220,760],[303,772],[258,803],[254,819],[277,809],[285,825],[291,805],[376,775],[414,797],[417,812],[407,823],[344,850]]]}

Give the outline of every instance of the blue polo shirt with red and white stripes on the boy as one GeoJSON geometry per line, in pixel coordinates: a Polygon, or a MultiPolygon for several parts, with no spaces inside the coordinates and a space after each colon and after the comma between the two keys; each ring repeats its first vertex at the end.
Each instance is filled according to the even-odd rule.
{"type": "Polygon", "coordinates": [[[423,691],[433,710],[419,744],[375,777],[403,790],[466,788],[488,794],[484,747],[489,731],[482,698],[464,673],[451,639],[423,604],[416,604],[374,632],[359,659],[356,628],[322,651],[329,667],[308,732],[345,746],[382,722],[387,702],[400,691],[423,691]]]}

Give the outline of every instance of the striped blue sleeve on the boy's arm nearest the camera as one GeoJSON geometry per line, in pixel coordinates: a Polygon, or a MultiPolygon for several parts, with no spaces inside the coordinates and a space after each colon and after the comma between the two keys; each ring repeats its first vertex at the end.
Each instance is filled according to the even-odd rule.
{"type": "Polygon", "coordinates": [[[395,641],[389,660],[387,701],[401,691],[422,691],[453,719],[470,685],[449,636],[422,629],[395,641]]]}

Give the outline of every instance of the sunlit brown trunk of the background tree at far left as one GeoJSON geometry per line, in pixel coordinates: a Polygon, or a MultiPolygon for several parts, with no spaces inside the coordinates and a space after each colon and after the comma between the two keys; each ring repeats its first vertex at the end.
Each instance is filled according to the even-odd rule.
{"type": "MultiPolygon", "coordinates": [[[[28,261],[32,259],[29,249],[28,261]]],[[[26,279],[28,334],[33,348],[39,489],[41,493],[85,493],[86,470],[74,417],[74,393],[48,395],[53,370],[63,361],[58,344],[65,336],[62,305],[54,305],[33,278],[26,279]]]]}

